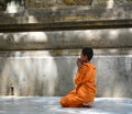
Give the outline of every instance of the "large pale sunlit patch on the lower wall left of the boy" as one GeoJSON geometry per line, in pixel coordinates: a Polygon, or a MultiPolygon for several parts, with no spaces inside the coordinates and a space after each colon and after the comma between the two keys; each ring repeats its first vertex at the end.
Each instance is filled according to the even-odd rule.
{"type": "Polygon", "coordinates": [[[1,72],[2,93],[10,95],[10,86],[13,86],[14,95],[38,95],[37,93],[53,95],[57,84],[57,68],[54,58],[45,58],[43,55],[36,57],[37,54],[34,54],[34,57],[24,53],[20,55],[16,53],[16,56],[7,59],[1,72]],[[4,91],[4,87],[8,90],[4,91]]]}

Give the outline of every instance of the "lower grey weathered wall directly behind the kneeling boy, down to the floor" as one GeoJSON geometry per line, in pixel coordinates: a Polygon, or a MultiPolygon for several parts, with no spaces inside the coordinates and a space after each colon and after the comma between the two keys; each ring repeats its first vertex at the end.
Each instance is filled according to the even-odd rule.
{"type": "MultiPolygon", "coordinates": [[[[0,94],[10,95],[13,86],[14,95],[64,95],[74,88],[77,57],[51,56],[48,50],[12,52],[10,57],[0,58],[0,94]]],[[[97,96],[131,98],[132,50],[128,55],[96,55],[92,62],[97,67],[97,96]]]]}

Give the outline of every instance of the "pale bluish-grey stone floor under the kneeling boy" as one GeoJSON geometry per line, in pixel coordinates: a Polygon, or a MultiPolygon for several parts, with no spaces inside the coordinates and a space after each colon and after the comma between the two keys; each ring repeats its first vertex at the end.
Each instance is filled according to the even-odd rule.
{"type": "Polygon", "coordinates": [[[0,96],[0,114],[132,114],[132,99],[96,98],[95,107],[67,109],[58,96],[0,96]]]}

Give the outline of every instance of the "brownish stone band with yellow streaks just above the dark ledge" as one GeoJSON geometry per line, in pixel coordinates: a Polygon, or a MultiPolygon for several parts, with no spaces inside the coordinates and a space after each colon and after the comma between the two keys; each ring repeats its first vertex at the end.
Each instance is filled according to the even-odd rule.
{"type": "Polygon", "coordinates": [[[0,12],[0,24],[132,19],[132,1],[110,2],[111,8],[109,8],[110,5],[108,8],[101,7],[100,3],[103,0],[99,1],[92,1],[92,5],[52,7],[45,9],[31,8],[20,10],[15,5],[11,5],[11,8],[9,5],[7,11],[0,12]]]}

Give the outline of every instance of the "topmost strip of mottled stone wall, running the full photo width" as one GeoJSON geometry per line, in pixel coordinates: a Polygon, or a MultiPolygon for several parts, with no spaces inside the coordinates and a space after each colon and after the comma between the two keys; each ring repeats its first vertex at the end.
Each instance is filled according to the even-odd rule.
{"type": "MultiPolygon", "coordinates": [[[[6,10],[8,7],[22,7],[26,9],[40,9],[51,7],[69,7],[69,5],[90,5],[96,8],[113,8],[117,5],[131,5],[131,0],[20,0],[7,1],[0,0],[0,10],[6,10]],[[13,3],[13,5],[12,5],[13,3]]],[[[21,7],[21,8],[20,8],[21,7]]]]}

